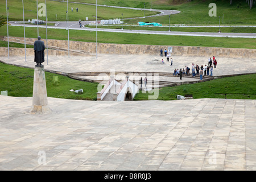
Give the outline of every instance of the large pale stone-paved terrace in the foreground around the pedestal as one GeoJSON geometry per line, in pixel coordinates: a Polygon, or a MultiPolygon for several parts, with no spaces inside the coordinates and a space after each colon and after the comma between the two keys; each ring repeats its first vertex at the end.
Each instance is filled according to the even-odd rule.
{"type": "Polygon", "coordinates": [[[48,102],[0,96],[0,170],[256,169],[255,100],[48,102]]]}

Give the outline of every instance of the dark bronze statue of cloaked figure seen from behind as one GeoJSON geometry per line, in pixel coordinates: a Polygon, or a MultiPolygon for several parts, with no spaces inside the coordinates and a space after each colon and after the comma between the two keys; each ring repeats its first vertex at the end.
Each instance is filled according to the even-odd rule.
{"type": "Polygon", "coordinates": [[[41,37],[38,36],[38,40],[34,43],[35,59],[36,65],[41,65],[44,62],[44,42],[41,40],[41,37]]]}

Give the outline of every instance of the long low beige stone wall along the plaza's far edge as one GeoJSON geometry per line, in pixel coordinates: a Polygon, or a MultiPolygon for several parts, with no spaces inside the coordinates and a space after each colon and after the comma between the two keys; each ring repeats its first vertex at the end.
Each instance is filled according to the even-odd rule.
{"type": "MultiPolygon", "coordinates": [[[[6,41],[7,38],[5,37],[6,41]]],[[[34,44],[36,38],[26,38],[26,43],[34,44]]],[[[46,44],[46,39],[42,39],[46,44]]],[[[9,37],[10,42],[24,43],[24,38],[9,37]]],[[[57,47],[68,49],[67,40],[48,39],[48,47],[57,47]]],[[[121,55],[160,55],[160,49],[167,49],[169,46],[150,46],[135,44],[106,44],[98,43],[98,53],[102,54],[121,54],[121,55]]],[[[172,55],[174,56],[206,56],[212,57],[245,57],[256,58],[256,49],[240,48],[218,48],[218,47],[193,47],[193,46],[171,46],[172,55]]],[[[96,53],[96,43],[69,41],[71,50],[83,51],[84,53],[96,53]]],[[[2,54],[1,54],[2,55],[2,54]]]]}

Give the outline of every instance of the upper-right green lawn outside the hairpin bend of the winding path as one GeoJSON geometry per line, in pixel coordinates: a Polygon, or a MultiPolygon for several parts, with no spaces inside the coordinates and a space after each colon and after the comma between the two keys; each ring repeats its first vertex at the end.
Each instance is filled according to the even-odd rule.
{"type": "MultiPolygon", "coordinates": [[[[96,3],[95,0],[70,0],[73,2],[96,3]]],[[[99,5],[112,5],[112,6],[125,6],[125,7],[138,7],[150,9],[152,2],[152,9],[163,10],[179,10],[180,14],[171,15],[171,24],[218,24],[219,16],[221,16],[221,24],[256,24],[256,11],[255,6],[250,10],[246,1],[233,0],[232,5],[227,0],[98,0],[99,5]],[[216,3],[217,16],[210,17],[208,15],[209,3],[216,3]],[[224,18],[223,18],[224,17],[224,18]],[[223,18],[223,21],[222,21],[223,18]]],[[[125,15],[125,13],[123,13],[125,15]]],[[[169,17],[156,16],[152,18],[130,19],[125,20],[127,23],[137,22],[157,22],[160,24],[168,24],[169,17]]]]}

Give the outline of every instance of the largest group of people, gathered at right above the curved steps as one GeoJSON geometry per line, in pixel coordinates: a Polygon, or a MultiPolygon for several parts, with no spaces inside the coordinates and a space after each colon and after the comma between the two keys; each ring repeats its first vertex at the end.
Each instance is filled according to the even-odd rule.
{"type": "MultiPolygon", "coordinates": [[[[213,76],[213,66],[214,68],[216,68],[217,66],[217,60],[215,59],[215,57],[213,56],[213,59],[211,59],[211,57],[208,60],[208,66],[205,64],[204,66],[201,65],[201,67],[199,67],[199,65],[195,65],[192,63],[191,69],[192,69],[192,76],[195,77],[196,75],[200,75],[200,80],[203,80],[203,75],[207,75],[207,76],[213,76]]],[[[187,67],[187,65],[185,65],[185,68],[183,69],[174,69],[174,74],[173,75],[179,75],[180,76],[180,80],[182,79],[182,75],[190,75],[190,70],[189,67],[187,67]]]]}

